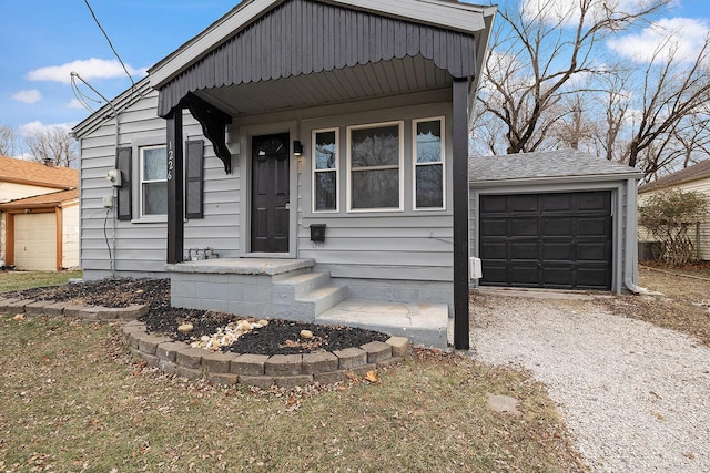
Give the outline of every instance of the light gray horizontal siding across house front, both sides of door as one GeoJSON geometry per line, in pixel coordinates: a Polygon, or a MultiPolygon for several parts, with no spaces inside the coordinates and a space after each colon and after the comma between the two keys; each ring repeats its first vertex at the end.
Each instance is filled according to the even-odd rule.
{"type": "MultiPolygon", "coordinates": [[[[133,218],[115,220],[104,209],[103,197],[114,195],[105,178],[115,166],[115,123],[104,122],[81,140],[81,255],[84,277],[95,279],[111,274],[108,244],[113,246],[119,276],[160,276],[165,270],[164,217],[140,217],[138,179],[141,146],[165,142],[165,121],[156,116],[158,93],[145,89],[145,96],[120,115],[120,147],[132,148],[133,218]],[[108,228],[108,240],[104,237],[108,228]],[[115,235],[115,239],[114,239],[115,235]]],[[[185,259],[190,249],[211,248],[220,258],[247,255],[250,137],[290,132],[300,136],[305,155],[291,157],[293,257],[313,258],[317,270],[336,278],[371,280],[452,281],[452,188],[445,185],[444,209],[416,210],[413,205],[413,121],[443,117],[445,155],[450,156],[450,91],[435,91],[348,104],[301,109],[288,112],[236,117],[229,127],[232,174],[204,146],[204,217],[187,219],[184,226],[185,259]],[[347,212],[347,130],[353,125],[400,123],[403,140],[403,193],[400,212],[347,212]],[[314,213],[312,206],[314,144],[313,132],[336,130],[338,134],[337,212],[314,213]],[[294,172],[295,171],[295,172],[294,172]],[[295,198],[294,198],[295,197],[295,198]],[[295,210],[295,212],[294,212],[295,210]],[[310,226],[326,225],[323,243],[311,241],[310,226]]],[[[183,140],[204,140],[200,125],[184,115],[183,140]]],[[[445,182],[450,179],[450,160],[445,158],[445,182]]],[[[447,291],[445,291],[447,292],[447,291]]],[[[448,295],[444,295],[448,299],[448,295]]]]}

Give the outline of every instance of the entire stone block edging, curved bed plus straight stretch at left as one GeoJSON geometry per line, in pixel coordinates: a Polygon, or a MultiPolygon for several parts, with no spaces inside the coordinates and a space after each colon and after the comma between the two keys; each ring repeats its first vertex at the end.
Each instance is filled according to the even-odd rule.
{"type": "Polygon", "coordinates": [[[409,340],[390,337],[361,347],[305,354],[250,354],[211,352],[191,348],[168,337],[148,333],[138,321],[148,313],[146,305],[125,308],[79,306],[52,300],[4,298],[0,296],[0,315],[74,317],[89,321],[126,321],[123,340],[132,354],[148,366],[187,379],[206,379],[217,384],[245,384],[257,388],[294,388],[313,382],[335,383],[352,376],[363,376],[377,368],[395,364],[409,351],[409,340]]]}

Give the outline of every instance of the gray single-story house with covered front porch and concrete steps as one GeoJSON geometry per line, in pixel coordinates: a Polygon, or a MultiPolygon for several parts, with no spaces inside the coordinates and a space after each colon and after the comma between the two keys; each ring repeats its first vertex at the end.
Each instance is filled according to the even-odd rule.
{"type": "Polygon", "coordinates": [[[240,2],[74,127],[84,278],[468,348],[469,105],[495,12],[240,2]]]}

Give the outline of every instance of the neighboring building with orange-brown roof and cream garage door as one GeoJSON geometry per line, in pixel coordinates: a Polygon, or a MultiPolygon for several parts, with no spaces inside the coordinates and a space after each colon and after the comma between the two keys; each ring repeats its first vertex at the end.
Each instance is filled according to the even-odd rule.
{"type": "Polygon", "coordinates": [[[0,267],[79,266],[79,171],[0,156],[0,267]]]}

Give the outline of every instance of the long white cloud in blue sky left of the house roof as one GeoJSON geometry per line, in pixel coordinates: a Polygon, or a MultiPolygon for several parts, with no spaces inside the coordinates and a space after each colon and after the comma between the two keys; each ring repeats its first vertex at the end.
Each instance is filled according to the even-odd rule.
{"type": "MultiPolygon", "coordinates": [[[[143,76],[146,74],[145,69],[134,69],[130,64],[125,65],[131,75],[143,76]]],[[[47,68],[36,69],[28,73],[30,81],[53,81],[70,83],[70,73],[77,72],[85,80],[92,79],[114,79],[125,76],[125,71],[118,60],[105,60],[91,58],[87,60],[78,60],[68,62],[62,65],[50,65],[47,68]]]]}

